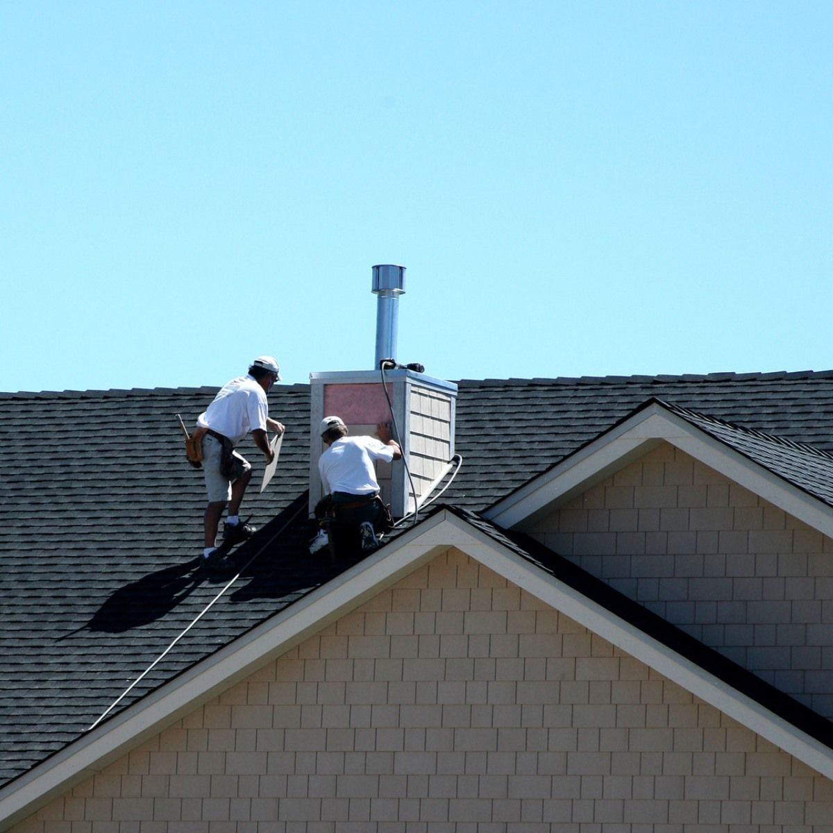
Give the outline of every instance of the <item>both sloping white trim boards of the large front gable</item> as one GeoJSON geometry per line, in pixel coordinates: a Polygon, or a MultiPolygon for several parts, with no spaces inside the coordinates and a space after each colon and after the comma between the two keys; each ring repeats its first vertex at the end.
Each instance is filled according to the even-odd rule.
{"type": "Polygon", "coordinates": [[[101,770],[147,737],[281,656],[450,546],[570,616],[807,766],[833,778],[830,747],[726,686],[716,676],[537,568],[464,519],[450,511],[439,511],[414,531],[408,531],[353,566],[336,581],[317,588],[187,674],[143,697],[27,775],[12,781],[0,791],[0,830],[7,830],[49,798],[101,770]]]}

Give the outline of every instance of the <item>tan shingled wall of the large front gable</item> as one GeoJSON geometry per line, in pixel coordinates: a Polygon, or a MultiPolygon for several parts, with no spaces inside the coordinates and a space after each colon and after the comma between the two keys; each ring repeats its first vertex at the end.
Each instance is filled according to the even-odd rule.
{"type": "Polygon", "coordinates": [[[833,781],[450,550],[15,833],[821,833],[833,781]]]}

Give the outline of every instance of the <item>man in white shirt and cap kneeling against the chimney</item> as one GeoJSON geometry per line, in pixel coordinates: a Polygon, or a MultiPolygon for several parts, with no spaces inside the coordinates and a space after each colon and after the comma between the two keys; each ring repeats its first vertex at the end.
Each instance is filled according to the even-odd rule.
{"type": "Polygon", "coordinates": [[[318,471],[324,495],[331,497],[331,516],[343,531],[352,531],[354,539],[358,533],[362,551],[366,552],[379,546],[374,523],[384,508],[378,499],[373,463],[402,459],[402,449],[392,439],[391,429],[380,423],[376,432],[378,440],[347,436],[347,426],[340,416],[325,416],[321,422],[322,440],[328,447],[318,458],[318,471]]]}

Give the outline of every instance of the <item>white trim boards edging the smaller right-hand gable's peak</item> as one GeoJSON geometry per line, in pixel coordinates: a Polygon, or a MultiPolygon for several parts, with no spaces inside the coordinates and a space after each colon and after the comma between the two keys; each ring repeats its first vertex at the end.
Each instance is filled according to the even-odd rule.
{"type": "Polygon", "coordinates": [[[574,496],[626,466],[657,441],[676,446],[826,536],[833,536],[830,506],[656,403],[607,431],[483,514],[499,526],[516,526],[551,503],[574,496]]]}

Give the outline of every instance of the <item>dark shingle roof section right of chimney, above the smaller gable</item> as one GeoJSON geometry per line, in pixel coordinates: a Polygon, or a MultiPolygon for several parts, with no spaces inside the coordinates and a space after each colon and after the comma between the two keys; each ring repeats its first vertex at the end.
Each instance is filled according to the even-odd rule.
{"type": "Polygon", "coordinates": [[[545,471],[651,398],[833,451],[833,372],[458,384],[456,451],[464,463],[444,500],[472,511],[545,471]]]}

